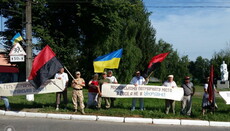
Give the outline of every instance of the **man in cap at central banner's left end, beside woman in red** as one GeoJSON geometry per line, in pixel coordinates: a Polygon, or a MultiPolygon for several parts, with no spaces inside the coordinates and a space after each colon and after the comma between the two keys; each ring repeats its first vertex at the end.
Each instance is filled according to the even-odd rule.
{"type": "MultiPolygon", "coordinates": [[[[101,87],[103,84],[107,84],[107,83],[110,83],[110,80],[107,77],[107,73],[106,72],[103,72],[102,73],[102,79],[99,80],[99,87],[98,88],[98,97],[97,97],[97,109],[100,109],[101,108],[101,102],[102,102],[102,92],[101,92],[101,87]]],[[[105,100],[105,108],[106,109],[109,109],[110,108],[110,104],[109,104],[109,98],[105,98],[104,97],[104,100],[105,100]]]]}

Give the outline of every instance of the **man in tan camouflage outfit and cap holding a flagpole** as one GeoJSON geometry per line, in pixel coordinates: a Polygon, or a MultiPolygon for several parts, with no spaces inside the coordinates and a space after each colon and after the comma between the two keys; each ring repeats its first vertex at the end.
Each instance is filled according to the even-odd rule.
{"type": "Polygon", "coordinates": [[[74,105],[75,112],[77,112],[77,102],[79,101],[80,105],[80,111],[82,114],[85,114],[84,112],[84,96],[83,96],[83,87],[85,86],[85,80],[81,78],[81,73],[77,71],[75,73],[76,78],[72,81],[72,87],[73,87],[73,93],[72,93],[72,101],[74,105]]]}

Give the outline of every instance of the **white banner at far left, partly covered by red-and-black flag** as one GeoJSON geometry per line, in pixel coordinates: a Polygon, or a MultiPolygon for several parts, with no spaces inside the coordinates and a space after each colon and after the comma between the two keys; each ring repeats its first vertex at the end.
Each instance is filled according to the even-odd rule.
{"type": "Polygon", "coordinates": [[[27,94],[45,94],[61,92],[65,89],[62,80],[51,79],[38,89],[34,88],[29,82],[15,82],[0,84],[0,96],[18,96],[27,94]]]}

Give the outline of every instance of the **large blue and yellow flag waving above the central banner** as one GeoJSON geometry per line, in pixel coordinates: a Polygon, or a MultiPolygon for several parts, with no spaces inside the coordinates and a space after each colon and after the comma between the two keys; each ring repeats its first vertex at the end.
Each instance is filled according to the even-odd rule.
{"type": "Polygon", "coordinates": [[[95,73],[104,72],[105,68],[117,69],[120,63],[123,49],[113,51],[109,54],[99,56],[93,61],[93,67],[95,73]]]}

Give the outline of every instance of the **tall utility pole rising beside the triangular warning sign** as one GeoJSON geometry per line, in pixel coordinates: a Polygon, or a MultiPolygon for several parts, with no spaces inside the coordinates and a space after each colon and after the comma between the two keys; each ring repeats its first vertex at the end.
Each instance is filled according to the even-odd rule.
{"type": "Polygon", "coordinates": [[[26,78],[32,69],[32,1],[26,0],[26,78]]]}

